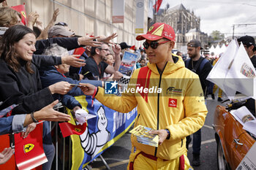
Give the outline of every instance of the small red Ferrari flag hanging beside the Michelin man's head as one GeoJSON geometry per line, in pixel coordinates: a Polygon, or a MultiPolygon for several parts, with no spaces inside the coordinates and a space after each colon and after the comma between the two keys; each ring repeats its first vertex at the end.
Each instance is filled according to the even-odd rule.
{"type": "Polygon", "coordinates": [[[59,127],[61,128],[61,133],[63,137],[70,136],[72,134],[81,135],[84,131],[86,131],[87,123],[83,125],[72,125],[71,123],[59,123],[59,127]]]}

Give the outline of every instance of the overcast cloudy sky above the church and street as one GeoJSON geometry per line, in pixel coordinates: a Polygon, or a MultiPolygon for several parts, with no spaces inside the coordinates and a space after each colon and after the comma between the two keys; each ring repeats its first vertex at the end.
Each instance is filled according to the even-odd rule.
{"type": "Polygon", "coordinates": [[[201,19],[200,30],[208,35],[218,30],[232,36],[233,24],[255,23],[235,26],[235,36],[256,36],[256,0],[162,0],[160,8],[165,8],[167,3],[170,7],[182,3],[186,9],[193,9],[201,19]]]}

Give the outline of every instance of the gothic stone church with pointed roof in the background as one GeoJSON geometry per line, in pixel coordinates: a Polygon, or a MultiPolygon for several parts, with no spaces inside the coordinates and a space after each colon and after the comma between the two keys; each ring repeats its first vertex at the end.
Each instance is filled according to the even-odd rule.
{"type": "Polygon", "coordinates": [[[175,47],[178,50],[185,52],[187,42],[192,39],[200,40],[203,47],[208,44],[208,35],[200,31],[200,18],[195,16],[194,12],[186,9],[183,4],[162,9],[159,11],[156,20],[173,27],[176,32],[175,47]]]}

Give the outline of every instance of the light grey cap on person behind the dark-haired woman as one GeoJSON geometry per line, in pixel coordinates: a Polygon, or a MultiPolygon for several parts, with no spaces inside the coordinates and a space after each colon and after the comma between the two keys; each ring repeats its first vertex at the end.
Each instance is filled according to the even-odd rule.
{"type": "Polygon", "coordinates": [[[75,33],[68,31],[64,26],[52,26],[48,31],[48,38],[70,37],[75,33]]]}

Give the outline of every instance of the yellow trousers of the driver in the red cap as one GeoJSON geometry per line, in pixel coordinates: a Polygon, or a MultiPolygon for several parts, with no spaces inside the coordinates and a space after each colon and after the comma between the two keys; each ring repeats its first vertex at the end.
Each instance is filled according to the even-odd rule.
{"type": "MultiPolygon", "coordinates": [[[[130,170],[130,163],[133,162],[134,170],[178,170],[180,166],[180,159],[176,158],[170,161],[162,160],[157,158],[157,161],[152,160],[151,158],[146,158],[144,155],[139,154],[140,150],[132,152],[129,155],[129,164],[127,170],[130,170]],[[138,155],[139,154],[139,155],[138,155]],[[136,157],[137,155],[137,157],[136,157]]],[[[189,159],[187,154],[184,154],[184,170],[192,170],[190,166],[189,159]]]]}

